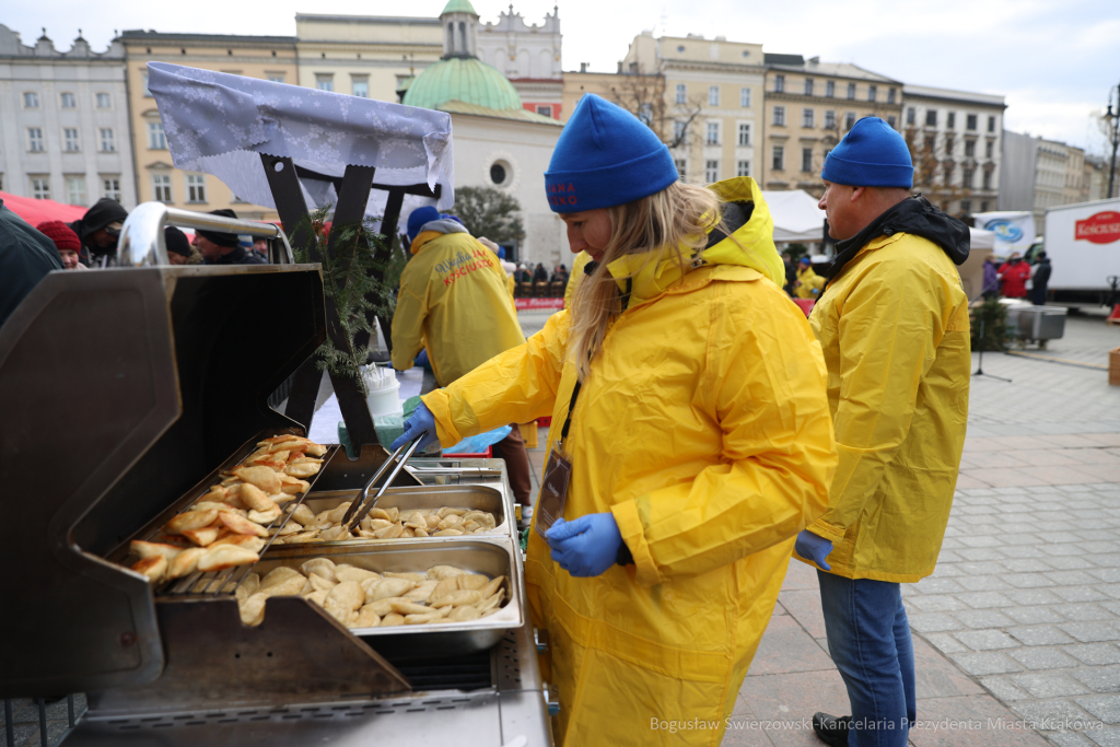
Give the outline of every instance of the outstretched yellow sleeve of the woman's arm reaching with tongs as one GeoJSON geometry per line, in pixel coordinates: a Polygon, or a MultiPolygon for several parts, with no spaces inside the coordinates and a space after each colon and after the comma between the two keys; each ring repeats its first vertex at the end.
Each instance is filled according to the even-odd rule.
{"type": "Polygon", "coordinates": [[[436,417],[439,442],[450,446],[469,436],[551,414],[567,339],[568,312],[558,311],[524,345],[420,398],[436,417]]]}

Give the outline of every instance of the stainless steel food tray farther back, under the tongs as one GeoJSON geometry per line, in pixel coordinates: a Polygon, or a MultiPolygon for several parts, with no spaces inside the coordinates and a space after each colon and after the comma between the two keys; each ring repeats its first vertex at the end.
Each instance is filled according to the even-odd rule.
{"type": "MultiPolygon", "coordinates": [[[[516,532],[516,522],[512,521],[513,513],[510,506],[510,493],[502,489],[503,485],[418,485],[412,487],[391,487],[385,491],[385,495],[377,502],[379,508],[395,506],[401,511],[412,508],[441,508],[451,506],[454,508],[470,508],[487,511],[494,514],[496,522],[493,530],[482,534],[466,534],[461,536],[424,536],[424,538],[398,538],[393,540],[371,540],[366,538],[351,538],[348,540],[336,540],[334,542],[298,542],[272,545],[270,552],[281,548],[329,548],[329,547],[354,547],[366,544],[386,543],[431,543],[449,542],[455,540],[475,538],[513,536],[516,532]]],[[[304,505],[312,513],[319,513],[328,508],[334,508],[339,504],[354,501],[357,497],[355,491],[320,491],[308,494],[304,499],[304,505]]],[[[293,520],[289,520],[293,521],[293,520]]]]}

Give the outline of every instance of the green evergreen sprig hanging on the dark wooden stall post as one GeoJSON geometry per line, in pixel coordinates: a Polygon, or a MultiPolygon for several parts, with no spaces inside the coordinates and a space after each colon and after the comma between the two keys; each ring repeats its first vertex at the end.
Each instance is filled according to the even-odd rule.
{"type": "Polygon", "coordinates": [[[323,291],[334,300],[338,324],[349,340],[351,349],[342,351],[327,337],[316,351],[316,365],[319,371],[354,379],[362,394],[368,395],[362,376],[368,346],[358,349],[354,340],[362,332],[375,339],[376,333],[370,326],[370,316],[392,316],[393,312],[392,289],[375,278],[375,273],[382,274],[386,269],[386,263],[376,259],[379,253],[388,255],[385,237],[373,230],[380,222],[380,218],[373,217],[365,217],[358,224],[332,225],[328,233],[325,223],[329,209],[330,205],[326,205],[310,213],[293,232],[297,235],[307,235],[309,232],[315,237],[314,245],[318,256],[312,258],[311,248],[306,245],[292,246],[292,254],[297,262],[318,261],[321,264],[323,291]],[[335,243],[333,251],[328,252],[328,239],[332,234],[335,243]]]}

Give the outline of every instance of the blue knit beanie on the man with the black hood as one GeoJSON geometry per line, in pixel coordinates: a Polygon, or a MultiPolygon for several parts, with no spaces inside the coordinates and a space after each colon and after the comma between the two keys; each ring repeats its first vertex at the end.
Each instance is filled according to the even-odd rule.
{"type": "Polygon", "coordinates": [[[821,178],[848,187],[914,186],[909,148],[895,129],[878,116],[856,122],[824,159],[821,178]]]}

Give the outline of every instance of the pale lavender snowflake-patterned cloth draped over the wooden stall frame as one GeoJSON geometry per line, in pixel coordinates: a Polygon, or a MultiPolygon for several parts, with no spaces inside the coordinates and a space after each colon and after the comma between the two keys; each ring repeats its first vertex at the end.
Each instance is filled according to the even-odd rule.
{"type": "MultiPolygon", "coordinates": [[[[148,63],[148,90],[175,166],[212,174],[250,203],[276,207],[259,153],[319,172],[372,166],[379,184],[440,184],[437,206],[455,202],[445,112],[168,63],[148,63]]],[[[319,206],[314,189],[304,192],[319,206]]],[[[370,207],[385,194],[374,190],[370,207]]]]}

